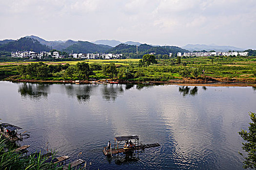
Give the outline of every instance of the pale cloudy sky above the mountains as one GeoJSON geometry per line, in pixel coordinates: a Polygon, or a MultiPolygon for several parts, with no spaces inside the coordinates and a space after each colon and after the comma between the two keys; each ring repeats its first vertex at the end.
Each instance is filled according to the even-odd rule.
{"type": "Polygon", "coordinates": [[[0,40],[115,39],[256,49],[256,0],[0,0],[0,40]]]}

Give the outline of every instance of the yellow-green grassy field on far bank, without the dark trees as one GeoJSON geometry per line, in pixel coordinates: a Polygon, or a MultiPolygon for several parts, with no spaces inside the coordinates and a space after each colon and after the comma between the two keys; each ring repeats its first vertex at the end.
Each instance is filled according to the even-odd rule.
{"type": "MultiPolygon", "coordinates": [[[[195,57],[181,58],[181,63],[177,64],[177,58],[168,60],[157,60],[157,64],[149,67],[139,67],[139,59],[115,59],[115,60],[84,60],[90,67],[93,65],[102,66],[114,63],[118,69],[118,75],[115,79],[123,79],[130,81],[169,81],[182,78],[222,78],[236,79],[238,81],[255,80],[256,78],[256,57],[195,57]],[[181,70],[197,70],[198,76],[193,76],[191,72],[187,76],[182,74],[181,70]],[[138,72],[140,74],[138,74],[138,72]]],[[[82,61],[62,61],[62,62],[43,62],[49,65],[65,65],[75,66],[82,61]]],[[[0,76],[18,76],[18,65],[28,65],[35,62],[2,62],[0,63],[0,76]]],[[[100,68],[93,69],[95,75],[90,76],[94,79],[105,79],[100,68]]],[[[26,77],[33,79],[33,77],[26,77]]],[[[107,77],[109,78],[109,77],[107,77]]],[[[47,80],[67,80],[70,77],[65,76],[65,70],[54,72],[47,80]]],[[[74,75],[73,80],[78,79],[74,75]]]]}

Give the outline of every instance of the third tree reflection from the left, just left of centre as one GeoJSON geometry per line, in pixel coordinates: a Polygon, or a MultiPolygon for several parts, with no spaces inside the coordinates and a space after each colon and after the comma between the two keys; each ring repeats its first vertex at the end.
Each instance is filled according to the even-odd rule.
{"type": "Polygon", "coordinates": [[[106,101],[116,101],[118,94],[123,93],[122,85],[104,85],[101,89],[102,98],[106,101]]]}

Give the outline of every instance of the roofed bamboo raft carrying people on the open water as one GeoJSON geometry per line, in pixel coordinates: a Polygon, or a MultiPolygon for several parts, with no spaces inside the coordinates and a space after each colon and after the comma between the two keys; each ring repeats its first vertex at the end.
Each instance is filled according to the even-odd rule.
{"type": "Polygon", "coordinates": [[[125,153],[129,151],[136,151],[136,150],[144,150],[146,148],[154,148],[160,146],[159,143],[153,143],[153,144],[142,144],[138,141],[138,136],[118,136],[115,137],[115,145],[114,148],[111,148],[110,150],[107,149],[107,147],[103,147],[103,154],[104,155],[112,155],[112,154],[118,154],[118,153],[125,153]],[[120,143],[123,141],[128,141],[134,139],[134,146],[133,147],[118,147],[120,146],[120,143]],[[117,142],[117,145],[116,145],[117,142]]]}

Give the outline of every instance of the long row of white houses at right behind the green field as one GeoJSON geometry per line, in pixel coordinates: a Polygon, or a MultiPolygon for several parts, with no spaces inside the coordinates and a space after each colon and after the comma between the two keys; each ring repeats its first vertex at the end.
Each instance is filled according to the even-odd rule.
{"type": "Polygon", "coordinates": [[[177,56],[185,56],[185,57],[191,57],[191,56],[197,56],[197,57],[203,57],[203,56],[248,56],[249,52],[184,52],[183,55],[181,52],[177,53],[177,56]]]}

